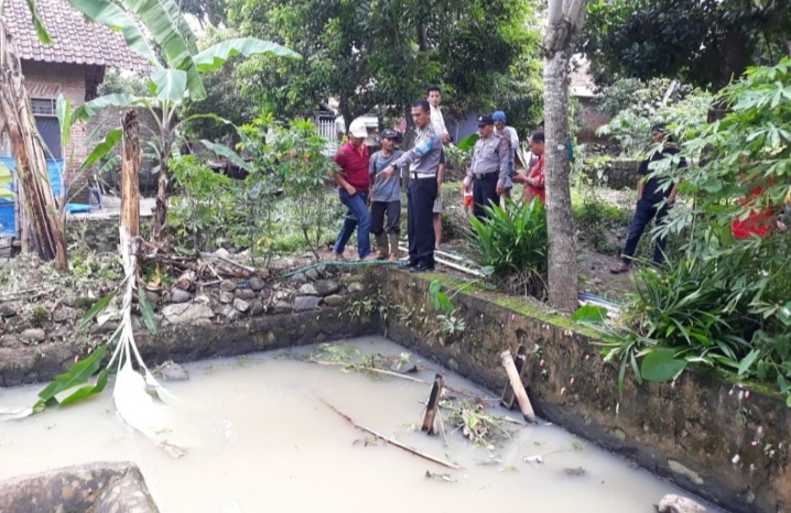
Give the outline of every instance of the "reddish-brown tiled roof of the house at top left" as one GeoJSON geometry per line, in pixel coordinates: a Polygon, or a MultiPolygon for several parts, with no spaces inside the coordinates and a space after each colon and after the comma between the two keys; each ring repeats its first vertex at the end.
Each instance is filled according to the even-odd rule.
{"type": "Polygon", "coordinates": [[[91,64],[128,70],[149,70],[145,59],[129,51],[123,35],[101,23],[86,22],[66,0],[36,2],[53,44],[42,44],[25,0],[6,0],[3,19],[22,59],[43,63],[91,64]]]}

